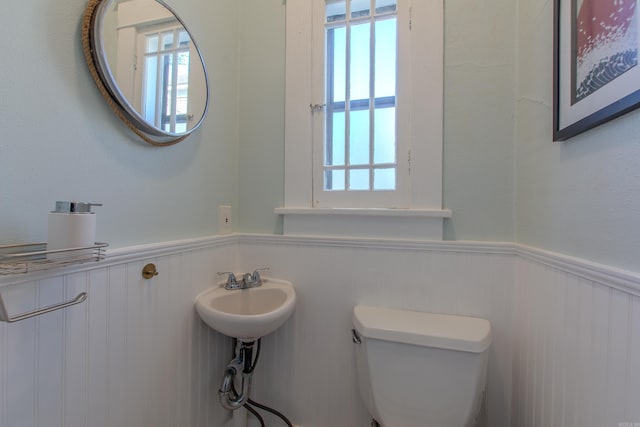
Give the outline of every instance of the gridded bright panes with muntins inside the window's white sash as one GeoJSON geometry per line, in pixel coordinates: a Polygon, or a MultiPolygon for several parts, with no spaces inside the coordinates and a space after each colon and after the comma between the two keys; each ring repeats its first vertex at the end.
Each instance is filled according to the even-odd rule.
{"type": "Polygon", "coordinates": [[[396,190],[396,0],[327,1],[325,43],[323,190],[396,190]]]}

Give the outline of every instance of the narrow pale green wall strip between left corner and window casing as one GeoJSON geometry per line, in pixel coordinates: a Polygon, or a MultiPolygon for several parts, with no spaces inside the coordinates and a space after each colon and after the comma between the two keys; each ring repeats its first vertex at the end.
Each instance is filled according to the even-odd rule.
{"type": "Polygon", "coordinates": [[[240,16],[237,228],[281,233],[282,221],[273,209],[284,202],[285,5],[243,0],[240,16]]]}

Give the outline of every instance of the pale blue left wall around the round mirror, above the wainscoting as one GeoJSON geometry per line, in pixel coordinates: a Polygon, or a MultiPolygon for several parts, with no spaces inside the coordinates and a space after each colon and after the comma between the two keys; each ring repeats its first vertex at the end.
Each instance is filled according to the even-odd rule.
{"type": "Polygon", "coordinates": [[[109,110],[84,62],[85,0],[12,1],[0,26],[0,243],[46,239],[56,200],[104,203],[98,240],[211,235],[237,204],[235,0],[172,0],[210,70],[213,106],[185,142],[154,148],[109,110]]]}

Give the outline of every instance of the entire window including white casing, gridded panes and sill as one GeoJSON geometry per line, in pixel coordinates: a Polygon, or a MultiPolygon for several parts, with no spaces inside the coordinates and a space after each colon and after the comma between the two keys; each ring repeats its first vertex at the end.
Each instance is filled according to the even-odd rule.
{"type": "Polygon", "coordinates": [[[285,234],[441,239],[443,0],[286,7],[285,234]]]}

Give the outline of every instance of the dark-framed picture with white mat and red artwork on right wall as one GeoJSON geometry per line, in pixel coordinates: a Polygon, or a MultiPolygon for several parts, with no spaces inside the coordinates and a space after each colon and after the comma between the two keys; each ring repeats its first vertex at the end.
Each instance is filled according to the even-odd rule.
{"type": "Polygon", "coordinates": [[[636,3],[554,0],[554,141],[640,106],[636,3]]]}

